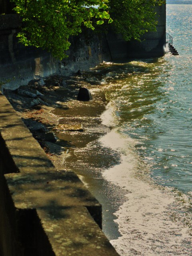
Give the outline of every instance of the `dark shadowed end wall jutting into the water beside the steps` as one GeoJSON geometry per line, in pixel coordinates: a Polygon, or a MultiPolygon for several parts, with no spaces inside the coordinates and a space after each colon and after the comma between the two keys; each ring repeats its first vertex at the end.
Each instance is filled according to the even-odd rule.
{"type": "Polygon", "coordinates": [[[126,42],[121,35],[110,32],[107,34],[108,45],[113,61],[124,61],[129,58],[149,58],[164,55],[166,44],[166,5],[155,8],[158,25],[156,32],[148,32],[142,42],[131,40],[126,42]]]}

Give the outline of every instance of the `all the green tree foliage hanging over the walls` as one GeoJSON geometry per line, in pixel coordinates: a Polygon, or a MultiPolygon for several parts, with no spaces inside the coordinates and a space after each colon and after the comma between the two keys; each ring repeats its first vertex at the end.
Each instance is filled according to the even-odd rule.
{"type": "MultiPolygon", "coordinates": [[[[41,47],[56,58],[67,57],[70,36],[81,32],[82,25],[94,28],[112,23],[125,40],[156,30],[153,7],[164,0],[12,0],[22,17],[18,33],[25,46],[41,47]],[[114,20],[114,22],[112,22],[114,20]]],[[[105,26],[106,27],[106,26],[105,26]]]]}

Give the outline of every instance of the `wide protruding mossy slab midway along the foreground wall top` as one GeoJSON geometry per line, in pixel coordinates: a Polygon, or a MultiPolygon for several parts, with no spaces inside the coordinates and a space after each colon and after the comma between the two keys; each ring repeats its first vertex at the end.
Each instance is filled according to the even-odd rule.
{"type": "Polygon", "coordinates": [[[16,208],[101,207],[74,172],[12,173],[5,177],[16,208]]]}

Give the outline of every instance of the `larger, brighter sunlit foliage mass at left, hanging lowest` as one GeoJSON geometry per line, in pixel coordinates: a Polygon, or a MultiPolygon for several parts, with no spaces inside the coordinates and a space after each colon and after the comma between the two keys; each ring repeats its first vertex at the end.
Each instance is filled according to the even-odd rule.
{"type": "Polygon", "coordinates": [[[81,25],[94,29],[95,25],[112,22],[106,9],[107,0],[13,0],[14,10],[22,17],[18,33],[25,46],[46,49],[56,58],[67,55],[69,37],[81,32],[81,25]],[[97,8],[94,7],[97,5],[97,8]],[[92,18],[96,18],[96,22],[92,18]]]}

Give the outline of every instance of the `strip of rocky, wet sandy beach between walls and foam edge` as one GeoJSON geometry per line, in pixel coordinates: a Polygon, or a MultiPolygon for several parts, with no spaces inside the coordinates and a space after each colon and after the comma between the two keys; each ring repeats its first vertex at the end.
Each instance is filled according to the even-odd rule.
{"type": "Polygon", "coordinates": [[[120,163],[120,156],[99,142],[111,128],[101,119],[109,84],[97,75],[92,70],[70,77],[49,76],[15,91],[4,90],[4,94],[56,169],[75,172],[99,200],[103,231],[108,239],[117,239],[120,233],[113,213],[125,200],[126,191],[102,176],[103,170],[120,163]],[[81,87],[90,90],[92,100],[77,99],[81,87]]]}

